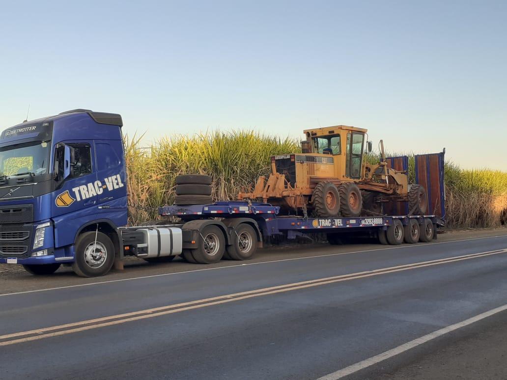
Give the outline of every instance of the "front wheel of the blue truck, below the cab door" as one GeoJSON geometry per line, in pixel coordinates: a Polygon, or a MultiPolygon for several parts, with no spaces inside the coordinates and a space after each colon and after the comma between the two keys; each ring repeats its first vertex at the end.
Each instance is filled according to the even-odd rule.
{"type": "Polygon", "coordinates": [[[72,270],[80,277],[103,276],[115,261],[115,247],[111,239],[99,232],[95,245],[95,232],[85,232],[76,241],[72,270]],[[93,253],[96,255],[93,256],[93,253]]]}

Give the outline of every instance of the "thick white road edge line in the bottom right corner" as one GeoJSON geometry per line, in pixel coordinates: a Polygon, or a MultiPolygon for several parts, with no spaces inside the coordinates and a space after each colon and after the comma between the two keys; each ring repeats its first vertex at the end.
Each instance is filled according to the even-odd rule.
{"type": "Polygon", "coordinates": [[[384,361],[386,359],[390,359],[396,355],[399,355],[399,354],[402,354],[406,351],[409,351],[417,346],[427,343],[428,341],[430,341],[432,339],[438,338],[442,335],[445,335],[449,332],[458,330],[462,327],[469,326],[473,323],[479,322],[485,318],[491,317],[492,315],[503,312],[505,310],[507,310],[507,305],[503,305],[498,308],[489,310],[487,312],[476,315],[475,317],[468,318],[468,319],[465,319],[464,321],[461,321],[461,322],[455,323],[453,325],[441,328],[440,330],[433,331],[433,332],[426,334],[424,336],[421,336],[417,339],[411,340],[401,346],[395,347],[395,348],[385,351],[381,354],[372,356],[369,359],[360,361],[358,363],[355,363],[355,364],[349,365],[348,367],[340,369],[336,372],[319,377],[317,380],[337,380],[337,379],[340,379],[342,377],[345,377],[345,376],[348,376],[352,373],[360,371],[361,369],[365,369],[365,368],[370,367],[374,364],[378,364],[381,361],[384,361]]]}

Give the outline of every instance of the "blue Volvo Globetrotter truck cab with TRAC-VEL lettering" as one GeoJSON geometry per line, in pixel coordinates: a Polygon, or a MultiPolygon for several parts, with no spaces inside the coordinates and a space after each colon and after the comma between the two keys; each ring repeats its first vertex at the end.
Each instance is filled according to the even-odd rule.
{"type": "Polygon", "coordinates": [[[83,275],[111,268],[127,223],[122,125],[115,113],[75,109],[2,132],[0,262],[52,273],[74,265],[82,245],[83,275]]]}

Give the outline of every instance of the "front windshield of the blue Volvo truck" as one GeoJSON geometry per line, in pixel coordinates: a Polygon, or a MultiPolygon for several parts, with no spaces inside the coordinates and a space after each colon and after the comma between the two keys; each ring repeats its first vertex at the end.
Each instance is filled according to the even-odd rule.
{"type": "Polygon", "coordinates": [[[32,141],[0,148],[0,175],[48,172],[50,141],[32,141]]]}

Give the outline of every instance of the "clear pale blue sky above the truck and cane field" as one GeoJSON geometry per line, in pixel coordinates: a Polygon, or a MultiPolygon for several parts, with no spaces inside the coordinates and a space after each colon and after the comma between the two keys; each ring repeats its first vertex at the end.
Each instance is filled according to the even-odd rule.
{"type": "Polygon", "coordinates": [[[505,169],[507,2],[0,0],[0,127],[73,108],[173,133],[368,128],[505,169]]]}

